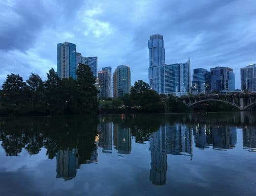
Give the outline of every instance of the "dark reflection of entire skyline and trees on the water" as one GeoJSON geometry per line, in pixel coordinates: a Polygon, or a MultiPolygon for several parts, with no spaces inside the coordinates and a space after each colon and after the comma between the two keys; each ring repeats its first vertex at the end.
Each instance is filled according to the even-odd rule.
{"type": "Polygon", "coordinates": [[[164,185],[167,156],[193,161],[193,148],[235,149],[238,128],[243,148],[256,152],[256,116],[247,113],[1,119],[0,140],[6,156],[22,150],[34,155],[45,148],[48,158],[56,159],[56,177],[64,180],[75,178],[81,165],[96,164],[98,150],[111,159],[114,151],[128,156],[132,144],[149,143],[144,149],[151,155],[149,180],[164,185]]]}

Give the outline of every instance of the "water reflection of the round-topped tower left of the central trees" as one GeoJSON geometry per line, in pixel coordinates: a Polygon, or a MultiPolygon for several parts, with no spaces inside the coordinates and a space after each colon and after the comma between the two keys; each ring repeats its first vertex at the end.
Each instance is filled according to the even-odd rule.
{"type": "Polygon", "coordinates": [[[129,154],[131,151],[131,132],[130,128],[114,124],[114,146],[119,154],[129,154]]]}

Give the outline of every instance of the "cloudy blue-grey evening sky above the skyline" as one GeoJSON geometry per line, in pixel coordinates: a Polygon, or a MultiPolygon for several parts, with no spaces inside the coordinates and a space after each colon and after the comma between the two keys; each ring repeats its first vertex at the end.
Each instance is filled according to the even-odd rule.
{"type": "Polygon", "coordinates": [[[152,34],[164,38],[167,64],[240,67],[256,63],[256,0],[0,0],[0,85],[9,73],[43,79],[57,70],[57,43],[98,56],[98,70],[131,68],[148,82],[152,34]]]}

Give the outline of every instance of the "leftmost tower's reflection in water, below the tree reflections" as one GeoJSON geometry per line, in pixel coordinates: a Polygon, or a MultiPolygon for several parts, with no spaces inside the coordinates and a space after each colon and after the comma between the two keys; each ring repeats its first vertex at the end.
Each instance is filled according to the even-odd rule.
{"type": "Polygon", "coordinates": [[[73,148],[71,151],[68,149],[60,149],[56,155],[57,162],[57,178],[64,178],[70,180],[76,176],[76,169],[80,168],[78,165],[78,158],[76,157],[77,149],[73,148]]]}

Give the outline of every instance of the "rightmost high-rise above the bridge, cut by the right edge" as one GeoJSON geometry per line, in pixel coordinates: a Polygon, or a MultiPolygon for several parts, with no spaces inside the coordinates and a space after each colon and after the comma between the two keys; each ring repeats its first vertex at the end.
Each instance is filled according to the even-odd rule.
{"type": "Polygon", "coordinates": [[[256,64],[249,64],[247,67],[241,68],[240,74],[241,90],[256,91],[256,64]]]}

